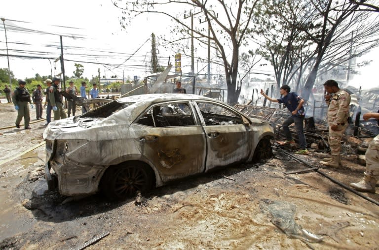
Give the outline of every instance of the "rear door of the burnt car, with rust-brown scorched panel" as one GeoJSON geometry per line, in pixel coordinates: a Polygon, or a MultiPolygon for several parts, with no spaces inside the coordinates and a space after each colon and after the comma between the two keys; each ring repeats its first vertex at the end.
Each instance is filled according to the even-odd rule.
{"type": "Polygon", "coordinates": [[[205,135],[189,102],[152,105],[134,123],[141,153],[163,182],[201,173],[205,169],[205,135]]]}

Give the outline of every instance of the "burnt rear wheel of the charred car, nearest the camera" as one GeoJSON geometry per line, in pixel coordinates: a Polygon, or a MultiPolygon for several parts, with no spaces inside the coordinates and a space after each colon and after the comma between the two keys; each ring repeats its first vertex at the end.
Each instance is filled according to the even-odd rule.
{"type": "Polygon", "coordinates": [[[108,168],[101,181],[101,191],[110,200],[124,200],[135,196],[137,191],[150,190],[154,180],[150,166],[131,161],[108,168]]]}

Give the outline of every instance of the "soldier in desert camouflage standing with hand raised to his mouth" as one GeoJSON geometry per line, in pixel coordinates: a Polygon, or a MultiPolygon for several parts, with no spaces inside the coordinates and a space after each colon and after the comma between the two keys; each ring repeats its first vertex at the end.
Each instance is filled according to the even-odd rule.
{"type": "Polygon", "coordinates": [[[330,167],[340,166],[340,151],[342,135],[347,128],[349,118],[350,94],[341,90],[335,80],[328,80],[324,83],[325,90],[333,95],[327,100],[328,103],[328,126],[329,126],[329,147],[332,157],[320,161],[321,164],[330,167]]]}

